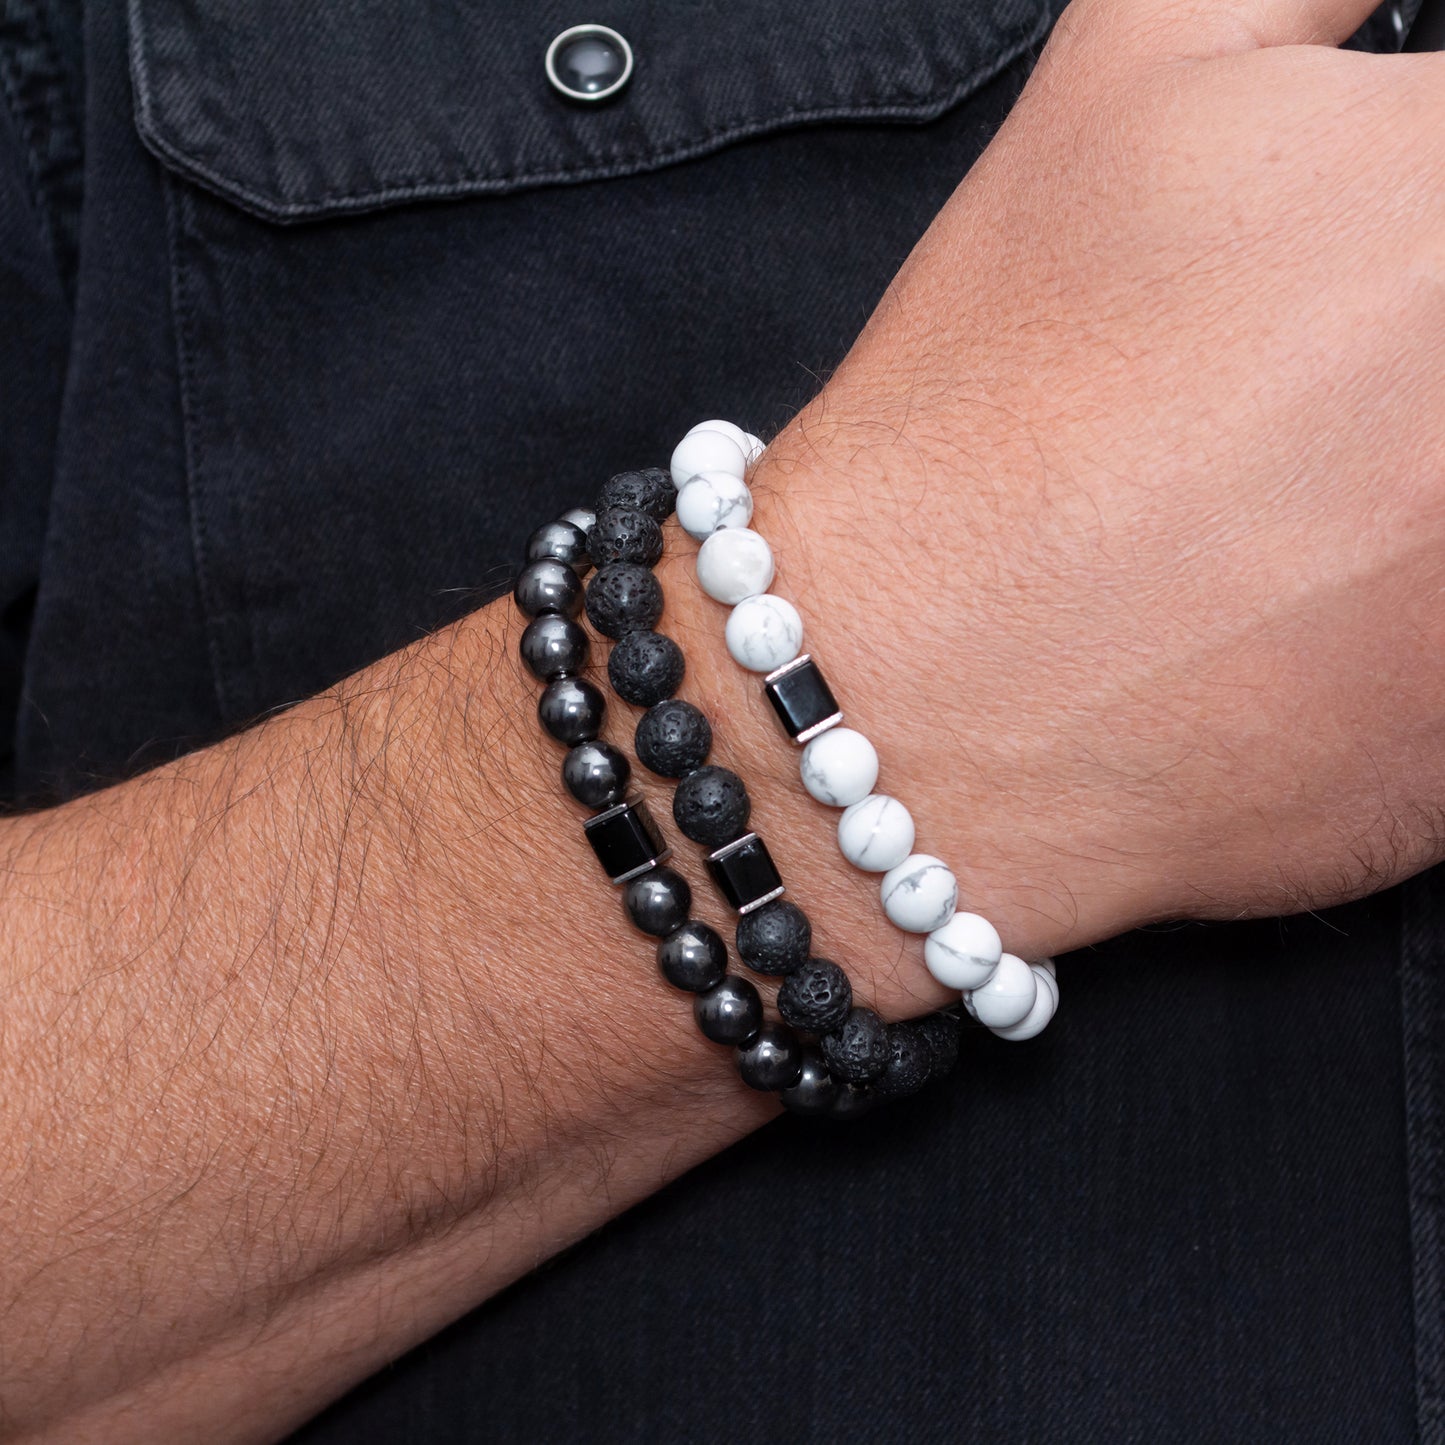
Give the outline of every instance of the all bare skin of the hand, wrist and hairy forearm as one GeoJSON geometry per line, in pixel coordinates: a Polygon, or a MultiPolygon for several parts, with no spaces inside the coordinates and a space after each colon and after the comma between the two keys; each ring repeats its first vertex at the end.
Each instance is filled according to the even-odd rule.
{"type": "MultiPolygon", "coordinates": [[[[1367,12],[1071,6],[753,478],[884,786],[1027,957],[1445,851],[1445,62],[1329,49],[1367,12]]],[[[683,695],[818,951],[938,1004],[691,552],[683,695]]],[[[519,631],[0,827],[9,1438],[275,1438],[776,1111],[600,877],[519,631]]]]}

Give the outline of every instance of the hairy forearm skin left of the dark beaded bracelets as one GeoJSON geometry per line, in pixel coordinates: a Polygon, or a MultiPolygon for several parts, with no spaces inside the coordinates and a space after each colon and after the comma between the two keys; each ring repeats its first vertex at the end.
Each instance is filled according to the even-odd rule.
{"type": "Polygon", "coordinates": [[[655,1017],[516,631],[4,825],[12,1432],[272,1436],[772,1113],[655,1017]]]}

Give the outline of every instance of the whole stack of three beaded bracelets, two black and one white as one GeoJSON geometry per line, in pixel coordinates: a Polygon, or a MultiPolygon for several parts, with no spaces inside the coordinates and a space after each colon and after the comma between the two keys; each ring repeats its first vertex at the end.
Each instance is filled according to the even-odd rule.
{"type": "Polygon", "coordinates": [[[760,452],[762,442],[731,423],[705,422],[679,444],[670,473],[621,473],[594,510],[578,509],[539,527],[514,590],[530,618],[520,650],[546,685],[538,718],[568,749],[562,782],[592,811],[584,822],[587,840],[623,887],[633,923],[659,941],[663,978],[694,994],[699,1030],[734,1049],[746,1084],[776,1092],[793,1113],[853,1117],[948,1074],[958,1058],[958,1025],[946,1012],[886,1025],[871,1009],[854,1006],[838,964],[812,957],[808,916],[782,897],[767,845],[747,828],[751,801],[743,780],[708,764],[712,728],[676,696],[682,652],[656,631],[663,595],[652,569],[662,556],[662,523],[675,509],[683,530],[702,542],[699,582],[733,608],[728,650],[750,670],[767,673],[769,701],[788,736],[803,746],[805,786],[844,808],[844,855],[858,867],[886,870],[884,909],[899,926],[928,932],[931,972],[967,988],[964,1007],[1004,1038],[1038,1033],[1053,1013],[1058,987],[1051,964],[1030,968],[1003,954],[988,923],[954,910],[952,874],[936,858],[910,853],[907,811],[871,792],[877,754],[861,734],[840,727],[842,714],[822,673],[799,656],[796,610],[767,592],[772,551],[747,529],[751,494],[744,480],[760,452]],[[584,588],[590,566],[595,571],[584,588]],[[605,701],[579,675],[591,650],[577,620],[584,607],[597,631],[614,640],[607,663],[613,689],[646,709],[636,728],[637,759],[678,780],[673,819],[709,850],[707,871],[738,915],[740,958],[757,974],[782,977],[782,1022],[766,1019],[757,988],[727,971],[722,938],[689,916],[691,886],[665,867],[670,848],[642,796],[629,793],[631,764],[601,741],[605,701]]]}

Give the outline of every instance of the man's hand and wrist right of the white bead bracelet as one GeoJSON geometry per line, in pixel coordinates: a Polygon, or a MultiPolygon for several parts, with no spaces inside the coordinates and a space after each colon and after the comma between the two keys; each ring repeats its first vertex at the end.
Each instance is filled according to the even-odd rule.
{"type": "Polygon", "coordinates": [[[760,468],[879,788],[1014,951],[1445,851],[1445,58],[1331,49],[1368,10],[1078,0],[760,468]]]}

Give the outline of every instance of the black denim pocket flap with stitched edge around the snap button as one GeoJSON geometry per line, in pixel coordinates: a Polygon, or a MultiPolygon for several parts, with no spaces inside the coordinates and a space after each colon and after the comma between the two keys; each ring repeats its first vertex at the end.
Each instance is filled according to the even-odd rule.
{"type": "MultiPolygon", "coordinates": [[[[577,23],[480,0],[130,0],[142,139],[275,221],[649,171],[786,126],[931,120],[1042,40],[1046,0],[623,0],[636,69],[546,81],[577,23]]],[[[584,17],[585,19],[585,17],[584,17]]]]}

